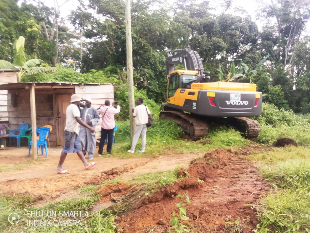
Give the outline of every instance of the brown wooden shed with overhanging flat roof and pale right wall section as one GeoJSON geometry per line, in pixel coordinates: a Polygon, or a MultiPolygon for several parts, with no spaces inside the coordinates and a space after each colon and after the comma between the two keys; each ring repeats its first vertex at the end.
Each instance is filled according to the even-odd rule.
{"type": "MultiPolygon", "coordinates": [[[[111,102],[114,99],[112,83],[10,83],[0,85],[0,91],[2,90],[7,90],[8,95],[9,127],[17,129],[23,123],[29,124],[29,127],[51,125],[53,127],[49,137],[51,146],[64,145],[66,109],[72,94],[79,94],[81,98],[92,98],[92,106],[95,108],[104,105],[107,99],[111,102]]],[[[98,138],[100,138],[100,124],[101,121],[96,126],[98,138]]]]}

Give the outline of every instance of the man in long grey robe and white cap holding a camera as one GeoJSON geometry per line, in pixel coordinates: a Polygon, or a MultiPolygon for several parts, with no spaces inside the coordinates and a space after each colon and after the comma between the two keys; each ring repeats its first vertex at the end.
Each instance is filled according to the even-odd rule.
{"type": "MultiPolygon", "coordinates": [[[[84,121],[87,125],[95,128],[96,124],[100,120],[100,116],[98,114],[98,111],[91,107],[92,103],[91,98],[87,98],[85,100],[85,105],[81,111],[81,119],[84,121]]],[[[86,151],[88,152],[88,159],[93,159],[93,154],[96,151],[96,133],[92,133],[91,131],[87,130],[86,127],[80,126],[80,141],[82,146],[82,152],[84,156],[86,155],[86,151]]]]}

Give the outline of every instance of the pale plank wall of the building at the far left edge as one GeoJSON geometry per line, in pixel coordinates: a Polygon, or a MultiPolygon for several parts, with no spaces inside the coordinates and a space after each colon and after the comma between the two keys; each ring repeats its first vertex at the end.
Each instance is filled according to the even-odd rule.
{"type": "MultiPolygon", "coordinates": [[[[0,85],[7,83],[16,83],[16,73],[0,72],[0,85]]],[[[9,120],[7,111],[7,90],[0,90],[0,122],[9,120]]]]}

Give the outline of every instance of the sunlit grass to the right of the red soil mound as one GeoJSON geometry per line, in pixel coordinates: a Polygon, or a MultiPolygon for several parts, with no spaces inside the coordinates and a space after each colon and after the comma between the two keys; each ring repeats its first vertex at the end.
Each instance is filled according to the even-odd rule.
{"type": "Polygon", "coordinates": [[[273,148],[250,157],[274,191],[256,206],[255,232],[310,231],[310,147],[273,148]]]}

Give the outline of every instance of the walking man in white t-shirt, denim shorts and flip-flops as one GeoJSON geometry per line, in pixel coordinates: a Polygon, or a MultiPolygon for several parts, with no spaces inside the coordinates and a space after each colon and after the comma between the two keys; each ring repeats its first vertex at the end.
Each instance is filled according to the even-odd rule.
{"type": "Polygon", "coordinates": [[[91,169],[96,162],[87,162],[84,154],[82,153],[82,147],[80,143],[80,139],[78,136],[79,130],[78,125],[84,126],[87,128],[91,133],[94,133],[95,130],[87,125],[82,119],[80,118],[80,110],[78,106],[81,104],[82,98],[80,98],[77,94],[73,94],[71,96],[71,104],[67,107],[66,111],[66,126],[64,128],[64,147],[60,154],[60,159],[58,166],[56,168],[57,174],[67,175],[69,171],[64,170],[62,165],[64,164],[64,160],[67,157],[68,153],[77,153],[78,157],[82,160],[86,170],[91,169]]]}

